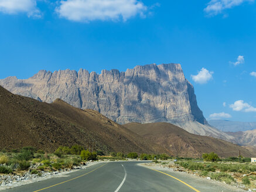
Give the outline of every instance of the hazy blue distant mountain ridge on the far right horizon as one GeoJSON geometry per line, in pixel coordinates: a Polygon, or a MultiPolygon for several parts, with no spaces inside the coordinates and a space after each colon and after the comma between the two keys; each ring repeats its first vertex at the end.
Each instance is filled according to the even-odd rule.
{"type": "Polygon", "coordinates": [[[210,120],[210,125],[224,132],[238,132],[256,129],[256,122],[238,122],[227,120],[210,120]]]}

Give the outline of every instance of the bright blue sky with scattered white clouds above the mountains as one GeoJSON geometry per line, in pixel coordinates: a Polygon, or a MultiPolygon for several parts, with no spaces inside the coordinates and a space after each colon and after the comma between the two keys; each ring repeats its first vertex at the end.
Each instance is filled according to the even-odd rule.
{"type": "Polygon", "coordinates": [[[253,0],[0,0],[0,78],[180,63],[207,119],[256,121],[255,53],[253,0]]]}

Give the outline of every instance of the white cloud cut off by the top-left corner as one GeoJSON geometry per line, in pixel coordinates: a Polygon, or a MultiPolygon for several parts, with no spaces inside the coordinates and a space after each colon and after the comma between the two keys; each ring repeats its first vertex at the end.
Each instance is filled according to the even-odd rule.
{"type": "Polygon", "coordinates": [[[0,0],[0,12],[6,14],[27,13],[27,15],[40,18],[41,12],[36,7],[36,0],[0,0]]]}

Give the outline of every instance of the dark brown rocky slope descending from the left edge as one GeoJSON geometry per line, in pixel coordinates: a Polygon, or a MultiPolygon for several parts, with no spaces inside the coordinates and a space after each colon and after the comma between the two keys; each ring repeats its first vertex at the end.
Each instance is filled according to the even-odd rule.
{"type": "Polygon", "coordinates": [[[14,95],[0,86],[0,149],[33,146],[52,152],[59,146],[95,144],[104,152],[168,153],[144,141],[97,111],[72,107],[57,99],[52,104],[14,95]]]}

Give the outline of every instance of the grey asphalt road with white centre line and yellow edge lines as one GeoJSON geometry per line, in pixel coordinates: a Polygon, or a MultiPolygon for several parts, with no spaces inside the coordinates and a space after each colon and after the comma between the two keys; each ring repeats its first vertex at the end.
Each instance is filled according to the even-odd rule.
{"type": "MultiPolygon", "coordinates": [[[[138,166],[138,162],[99,163],[87,167],[87,169],[67,174],[67,176],[38,181],[5,191],[200,191],[193,187],[192,180],[179,180],[179,178],[173,177],[172,173],[166,174],[138,166]]],[[[200,188],[203,187],[205,189],[207,184],[202,183],[200,188]]]]}

